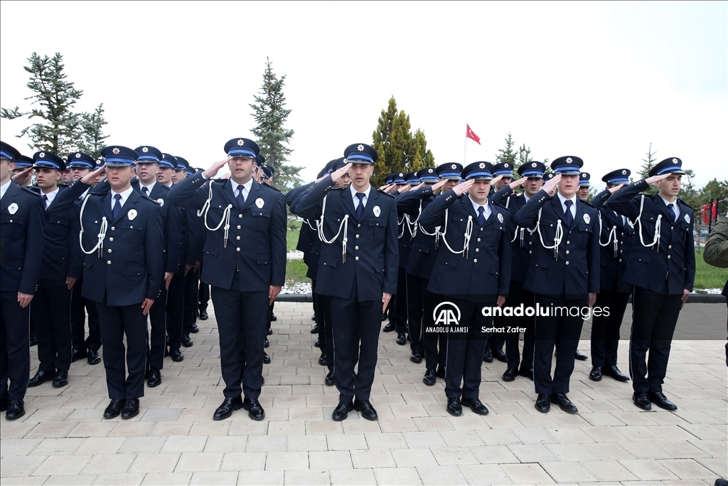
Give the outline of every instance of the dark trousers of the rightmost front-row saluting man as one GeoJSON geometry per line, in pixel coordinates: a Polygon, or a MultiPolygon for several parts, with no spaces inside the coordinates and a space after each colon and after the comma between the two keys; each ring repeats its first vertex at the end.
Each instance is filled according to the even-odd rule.
{"type": "Polygon", "coordinates": [[[668,294],[667,281],[660,292],[635,286],[632,335],[630,337],[630,377],[634,391],[662,391],[668,369],[670,343],[682,305],[680,294],[668,294]],[[649,350],[649,358],[645,358],[649,350]]]}

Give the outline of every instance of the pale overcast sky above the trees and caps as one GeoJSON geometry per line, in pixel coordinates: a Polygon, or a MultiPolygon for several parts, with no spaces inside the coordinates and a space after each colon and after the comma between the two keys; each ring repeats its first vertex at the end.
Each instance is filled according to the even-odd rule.
{"type": "MultiPolygon", "coordinates": [[[[680,157],[698,185],[728,179],[728,13],[721,2],[0,3],[4,108],[31,52],[63,54],[103,102],[108,144],[157,146],[207,168],[250,137],[266,56],[285,74],[291,163],[311,180],[371,144],[390,95],[435,162],[494,161],[507,133],[535,160],[582,157],[593,181],[680,157]],[[468,122],[481,145],[464,138],[468,122]],[[464,150],[467,146],[467,153],[464,150]],[[465,159],[464,159],[465,157],[465,159]]],[[[24,120],[0,122],[15,136],[24,120]]],[[[65,155],[65,154],[63,154],[65,155]]]]}

